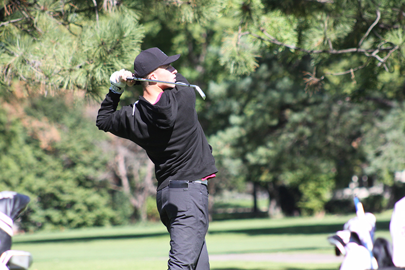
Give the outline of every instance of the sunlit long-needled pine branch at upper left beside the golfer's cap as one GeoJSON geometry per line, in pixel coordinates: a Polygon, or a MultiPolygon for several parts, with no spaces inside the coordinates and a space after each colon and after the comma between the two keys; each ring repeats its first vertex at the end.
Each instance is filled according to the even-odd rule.
{"type": "Polygon", "coordinates": [[[10,27],[1,32],[0,74],[5,84],[18,78],[29,93],[85,90],[97,97],[112,72],[131,68],[143,38],[136,12],[120,7],[95,24],[73,8],[77,6],[53,1],[39,5],[30,10],[38,36],[10,27]]]}

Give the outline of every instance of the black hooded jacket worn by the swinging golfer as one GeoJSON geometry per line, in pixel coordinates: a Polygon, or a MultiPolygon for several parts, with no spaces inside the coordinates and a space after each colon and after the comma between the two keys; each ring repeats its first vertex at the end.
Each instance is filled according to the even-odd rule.
{"type": "MultiPolygon", "coordinates": [[[[188,84],[179,73],[176,80],[188,84]]],[[[157,189],[169,180],[193,181],[218,172],[212,147],[198,122],[193,88],[165,90],[156,104],[139,96],[135,104],[116,110],[119,97],[111,91],[106,95],[96,125],[146,150],[155,165],[157,189]]]]}

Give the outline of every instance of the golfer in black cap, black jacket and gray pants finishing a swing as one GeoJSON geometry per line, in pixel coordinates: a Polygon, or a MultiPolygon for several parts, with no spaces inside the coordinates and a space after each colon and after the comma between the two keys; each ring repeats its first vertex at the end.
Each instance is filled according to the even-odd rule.
{"type": "Polygon", "coordinates": [[[170,233],[168,267],[210,269],[205,236],[208,230],[209,178],[218,172],[195,111],[195,92],[171,65],[180,55],[167,56],[158,48],[142,51],[134,62],[143,95],[135,104],[116,110],[132,72],[121,69],[110,77],[111,87],[97,115],[97,127],[129,139],[146,150],[155,165],[156,203],[170,233]]]}

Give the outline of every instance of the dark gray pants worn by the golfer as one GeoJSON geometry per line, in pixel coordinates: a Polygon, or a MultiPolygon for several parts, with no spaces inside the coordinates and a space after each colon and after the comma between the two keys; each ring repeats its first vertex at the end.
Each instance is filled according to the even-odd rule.
{"type": "Polygon", "coordinates": [[[169,270],[209,270],[207,186],[194,182],[188,188],[167,186],[157,191],[156,203],[170,233],[169,270]]]}

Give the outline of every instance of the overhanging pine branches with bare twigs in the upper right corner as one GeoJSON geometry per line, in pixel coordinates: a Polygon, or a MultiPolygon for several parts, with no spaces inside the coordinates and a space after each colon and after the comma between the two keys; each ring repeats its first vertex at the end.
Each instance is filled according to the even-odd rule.
{"type": "MultiPolygon", "coordinates": [[[[392,70],[396,63],[403,62],[403,16],[399,15],[401,9],[398,8],[403,3],[263,1],[261,9],[253,8],[253,2],[245,3],[248,3],[245,6],[249,16],[247,12],[232,13],[232,8],[237,10],[234,5],[228,4],[228,9],[224,10],[224,14],[236,16],[235,24],[224,31],[227,36],[232,37],[231,40],[240,40],[249,35],[249,43],[255,44],[254,50],[246,49],[244,43],[224,39],[221,64],[232,74],[254,72],[257,66],[252,65],[253,56],[264,55],[263,52],[279,54],[290,49],[286,52],[289,60],[312,58],[311,67],[302,71],[312,72],[314,67],[318,67],[319,75],[313,74],[306,83],[310,89],[319,91],[322,87],[313,83],[324,80],[329,74],[347,74],[337,80],[350,81],[349,75],[352,80],[354,75],[362,77],[363,74],[358,71],[362,68],[370,67],[373,73],[382,74],[390,68],[392,70]],[[249,52],[250,56],[239,56],[242,55],[239,50],[249,52]],[[361,56],[358,62],[352,61],[355,55],[361,56]],[[339,70],[336,64],[346,60],[343,70],[339,70]]],[[[325,85],[330,83],[327,80],[323,82],[325,85]]],[[[338,91],[353,93],[361,88],[362,85],[358,84],[352,89],[341,88],[338,91]]]]}

